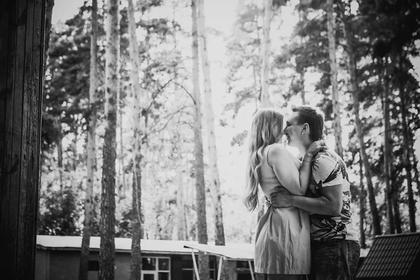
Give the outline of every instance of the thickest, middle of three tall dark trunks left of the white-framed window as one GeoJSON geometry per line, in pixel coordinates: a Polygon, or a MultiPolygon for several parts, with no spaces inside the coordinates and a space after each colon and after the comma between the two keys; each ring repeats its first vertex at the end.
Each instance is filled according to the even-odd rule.
{"type": "Polygon", "coordinates": [[[118,0],[109,0],[107,7],[106,67],[105,67],[105,118],[102,196],[101,246],[99,250],[99,279],[114,279],[115,274],[115,224],[116,224],[116,126],[118,93],[118,0]]]}

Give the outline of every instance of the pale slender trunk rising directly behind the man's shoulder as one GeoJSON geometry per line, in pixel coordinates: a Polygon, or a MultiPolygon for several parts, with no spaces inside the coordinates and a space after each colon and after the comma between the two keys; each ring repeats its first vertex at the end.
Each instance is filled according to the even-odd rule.
{"type": "Polygon", "coordinates": [[[343,146],[342,146],[342,127],[340,120],[340,106],[338,98],[338,85],[337,85],[337,62],[335,59],[335,19],[333,12],[333,0],[327,0],[327,27],[328,27],[328,51],[330,53],[330,81],[332,87],[332,113],[334,115],[332,119],[332,126],[334,127],[335,137],[335,152],[340,158],[343,157],[343,146]]]}

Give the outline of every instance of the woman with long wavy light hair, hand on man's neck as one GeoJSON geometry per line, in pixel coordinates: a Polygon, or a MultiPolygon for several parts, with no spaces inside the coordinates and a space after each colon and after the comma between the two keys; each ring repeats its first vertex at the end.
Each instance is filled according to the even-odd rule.
{"type": "MultiPolygon", "coordinates": [[[[246,207],[258,206],[258,185],[266,197],[276,186],[294,195],[304,195],[309,186],[311,161],[323,149],[323,141],[309,146],[300,162],[283,144],[283,115],[261,109],[253,117],[246,169],[246,207]],[[318,147],[318,148],[316,148],[318,147]]],[[[269,207],[258,221],[255,237],[257,279],[295,280],[310,272],[309,216],[295,207],[269,207]]]]}

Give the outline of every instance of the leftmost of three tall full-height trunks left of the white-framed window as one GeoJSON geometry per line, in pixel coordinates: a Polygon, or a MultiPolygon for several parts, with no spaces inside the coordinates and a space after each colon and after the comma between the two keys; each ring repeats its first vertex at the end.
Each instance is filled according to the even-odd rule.
{"type": "Polygon", "coordinates": [[[83,238],[80,251],[79,280],[87,280],[89,274],[90,236],[92,235],[93,221],[93,184],[96,169],[96,123],[97,123],[97,87],[98,87],[98,3],[92,1],[92,31],[90,33],[90,76],[89,76],[89,109],[90,118],[87,130],[87,178],[85,197],[85,219],[83,221],[83,238]]]}

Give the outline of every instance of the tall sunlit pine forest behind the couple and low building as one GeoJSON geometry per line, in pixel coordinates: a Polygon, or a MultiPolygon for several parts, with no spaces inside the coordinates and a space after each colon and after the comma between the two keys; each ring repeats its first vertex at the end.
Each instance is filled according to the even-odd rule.
{"type": "Polygon", "coordinates": [[[362,248],[416,232],[419,2],[209,2],[85,0],[52,24],[47,0],[38,235],[83,235],[80,265],[100,236],[102,279],[114,237],[133,260],[140,239],[252,243],[248,128],[291,104],[325,113],[362,248]]]}

